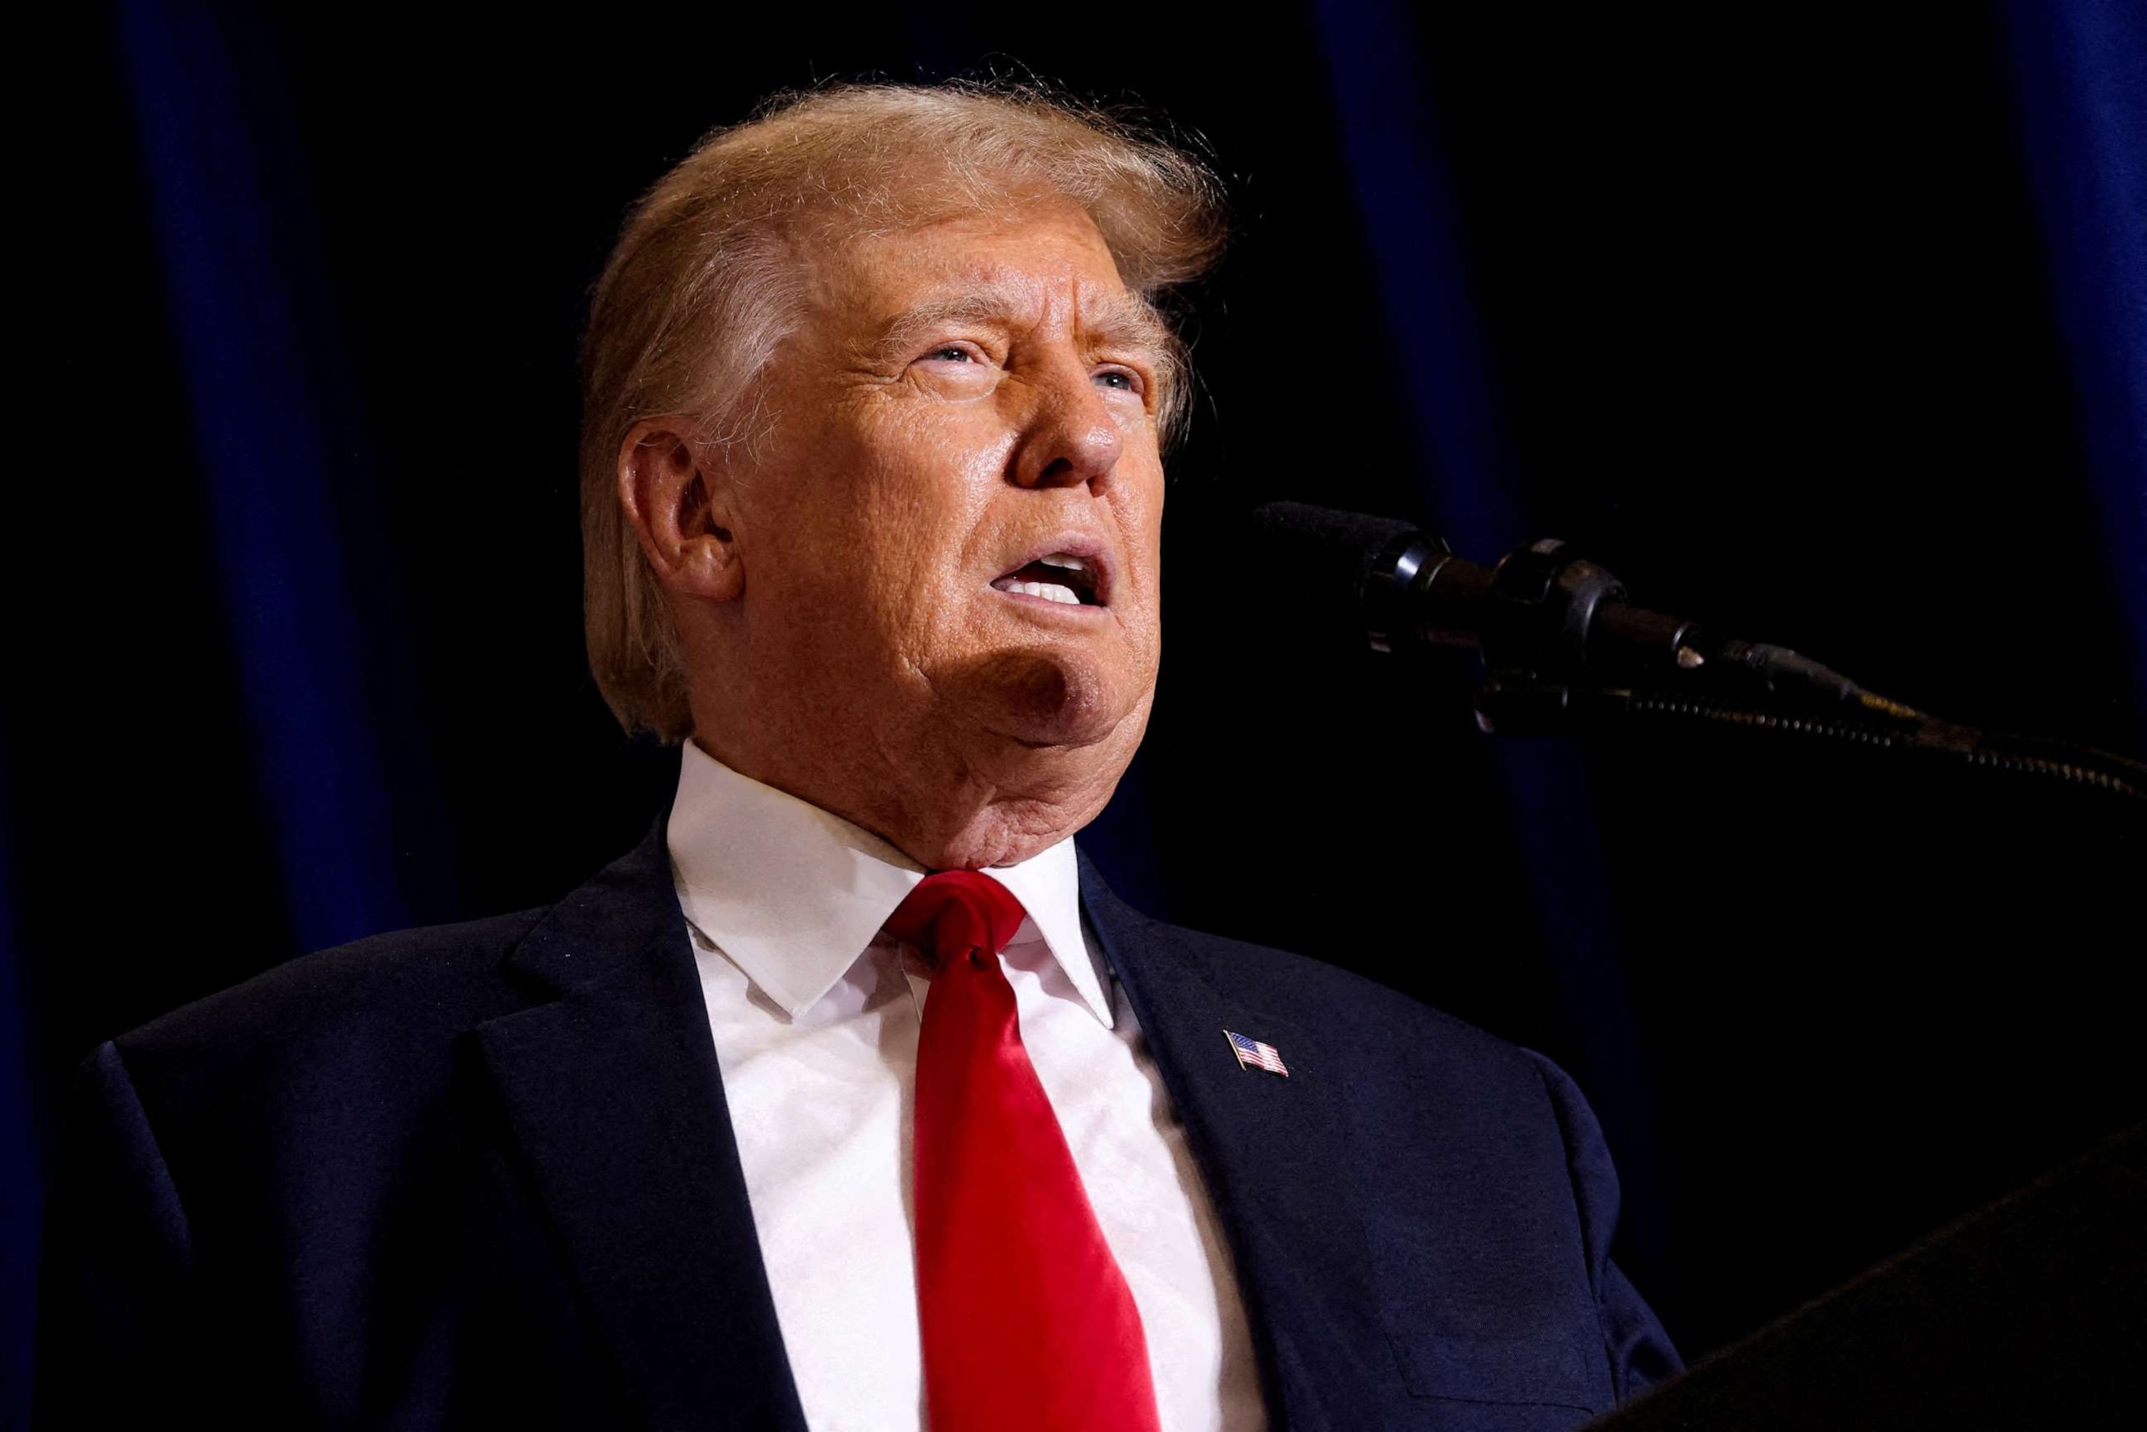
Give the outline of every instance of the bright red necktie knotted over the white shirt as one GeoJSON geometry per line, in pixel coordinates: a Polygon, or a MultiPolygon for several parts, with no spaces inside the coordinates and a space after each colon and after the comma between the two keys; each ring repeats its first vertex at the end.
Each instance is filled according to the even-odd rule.
{"type": "Polygon", "coordinates": [[[1022,906],[925,876],[887,930],[934,964],[917,1039],[917,1307],[932,1432],[1155,1432],[1140,1310],[1037,1082],[998,951],[1022,906]]]}

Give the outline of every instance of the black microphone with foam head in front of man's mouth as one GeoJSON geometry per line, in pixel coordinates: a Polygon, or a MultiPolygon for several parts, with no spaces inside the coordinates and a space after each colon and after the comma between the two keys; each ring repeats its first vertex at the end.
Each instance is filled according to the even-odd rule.
{"type": "Polygon", "coordinates": [[[1372,651],[1473,646],[1507,685],[1604,687],[1713,668],[1784,696],[1870,704],[1853,681],[1784,646],[1715,640],[1696,620],[1627,603],[1623,582],[1554,537],[1484,567],[1393,517],[1267,502],[1252,522],[1271,590],[1372,651]]]}

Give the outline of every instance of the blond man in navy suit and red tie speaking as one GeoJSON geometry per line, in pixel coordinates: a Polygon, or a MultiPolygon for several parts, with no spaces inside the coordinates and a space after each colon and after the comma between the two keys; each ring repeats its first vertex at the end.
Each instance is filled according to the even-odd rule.
{"type": "Polygon", "coordinates": [[[704,142],[584,350],[590,659],[670,812],[550,910],[103,1046],[41,1413],[1552,1428],[1675,1368],[1546,1061],[1119,904],[1155,301],[1209,176],[1020,94],[704,142]]]}

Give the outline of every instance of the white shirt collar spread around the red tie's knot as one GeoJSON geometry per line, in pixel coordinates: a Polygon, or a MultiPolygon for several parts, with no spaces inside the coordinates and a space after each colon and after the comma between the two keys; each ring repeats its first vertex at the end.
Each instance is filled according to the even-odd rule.
{"type": "MultiPolygon", "coordinates": [[[[685,917],[792,1018],[842,979],[925,878],[923,865],[872,831],[739,775],[691,741],[666,835],[685,917]]],[[[1074,842],[983,874],[1022,902],[1035,934],[1108,1028],[1110,1000],[1082,938],[1074,842]]]]}

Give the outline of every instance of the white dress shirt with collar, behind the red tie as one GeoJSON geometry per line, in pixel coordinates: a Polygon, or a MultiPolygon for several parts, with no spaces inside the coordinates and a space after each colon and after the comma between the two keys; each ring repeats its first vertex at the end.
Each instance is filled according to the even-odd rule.
{"type": "MultiPolygon", "coordinates": [[[[880,925],[925,872],[691,743],[670,852],[805,1421],[923,1428],[910,1116],[932,985],[880,925]]],[[[1082,927],[1074,842],[985,874],[1028,912],[1001,955],[1022,1043],[1140,1307],[1162,1426],[1265,1428],[1230,1252],[1082,927]]]]}

